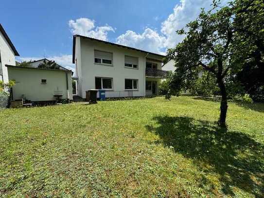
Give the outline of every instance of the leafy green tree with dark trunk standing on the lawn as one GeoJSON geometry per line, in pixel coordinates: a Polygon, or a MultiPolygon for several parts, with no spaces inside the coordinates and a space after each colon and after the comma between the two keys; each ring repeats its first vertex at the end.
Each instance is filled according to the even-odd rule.
{"type": "MultiPolygon", "coordinates": [[[[219,1],[214,1],[212,10],[205,12],[202,9],[198,18],[186,25],[187,31],[184,29],[177,31],[177,34],[186,37],[175,48],[169,49],[166,57],[167,60],[174,59],[176,62],[176,71],[167,98],[182,88],[188,88],[197,79],[197,72],[200,69],[215,77],[222,96],[218,120],[221,127],[226,127],[228,110],[226,82],[242,71],[246,62],[244,57],[250,56],[248,49],[253,48],[252,43],[241,41],[243,35],[242,29],[239,28],[243,23],[238,18],[241,13],[252,12],[251,7],[246,3],[249,1],[250,5],[260,2],[260,0],[237,0],[220,7],[219,1]],[[256,2],[252,4],[251,1],[256,2]],[[244,7],[243,4],[241,7],[241,2],[246,6],[244,7]]],[[[257,14],[257,17],[261,16],[257,14]]],[[[257,23],[248,27],[250,31],[257,31],[253,26],[263,24],[263,20],[258,20],[257,23]]],[[[244,37],[246,38],[246,35],[244,37]]],[[[259,39],[263,42],[263,36],[259,39]]]]}

